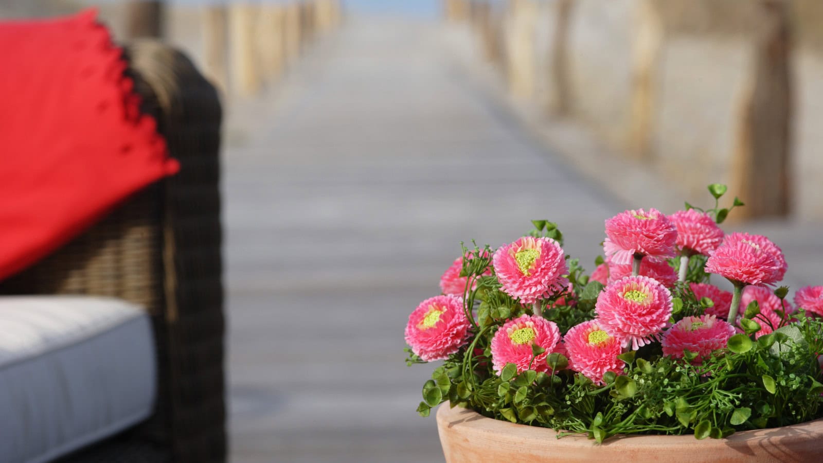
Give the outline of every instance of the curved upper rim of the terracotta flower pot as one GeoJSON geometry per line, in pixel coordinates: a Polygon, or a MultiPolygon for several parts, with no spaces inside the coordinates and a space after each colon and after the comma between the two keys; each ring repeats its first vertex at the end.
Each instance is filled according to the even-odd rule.
{"type": "MultiPolygon", "coordinates": [[[[557,438],[557,433],[551,428],[540,428],[528,426],[527,424],[516,424],[500,419],[487,418],[478,414],[472,409],[449,406],[445,402],[437,410],[437,422],[440,428],[464,428],[465,431],[475,433],[492,433],[495,436],[509,439],[512,437],[523,439],[524,441],[545,441],[551,439],[552,447],[581,447],[597,445],[592,439],[584,435],[571,435],[557,438]]],[[[459,431],[458,431],[459,432],[459,431]]],[[[779,438],[784,444],[791,444],[792,441],[806,441],[810,436],[823,435],[823,418],[807,421],[806,423],[783,426],[782,428],[755,429],[751,431],[738,431],[723,439],[705,438],[701,441],[695,439],[694,435],[687,434],[681,436],[667,436],[660,434],[634,434],[630,436],[617,435],[609,437],[600,446],[630,449],[633,447],[649,447],[652,441],[658,441],[656,445],[699,445],[700,447],[737,447],[743,442],[752,440],[769,440],[779,438]]]]}

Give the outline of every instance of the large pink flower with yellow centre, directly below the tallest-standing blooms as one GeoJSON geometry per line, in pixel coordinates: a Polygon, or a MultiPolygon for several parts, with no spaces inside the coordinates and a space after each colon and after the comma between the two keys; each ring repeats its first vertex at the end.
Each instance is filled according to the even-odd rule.
{"type": "Polygon", "coordinates": [[[609,335],[637,350],[648,344],[672,316],[672,294],[649,277],[626,277],[611,283],[594,306],[609,335]]]}

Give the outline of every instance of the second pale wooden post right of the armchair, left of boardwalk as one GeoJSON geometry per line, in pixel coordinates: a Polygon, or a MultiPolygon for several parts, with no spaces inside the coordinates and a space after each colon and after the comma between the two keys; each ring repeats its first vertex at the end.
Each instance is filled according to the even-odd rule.
{"type": "Polygon", "coordinates": [[[257,19],[255,7],[236,2],[229,7],[229,44],[231,47],[231,82],[240,96],[251,96],[260,87],[254,26],[257,19]]]}

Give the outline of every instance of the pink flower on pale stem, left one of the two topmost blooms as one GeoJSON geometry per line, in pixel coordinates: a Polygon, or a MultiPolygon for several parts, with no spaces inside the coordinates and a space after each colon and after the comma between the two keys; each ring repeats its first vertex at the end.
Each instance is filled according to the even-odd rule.
{"type": "Polygon", "coordinates": [[[655,208],[625,211],[606,221],[606,260],[615,264],[631,264],[632,257],[673,257],[677,228],[655,208]]]}

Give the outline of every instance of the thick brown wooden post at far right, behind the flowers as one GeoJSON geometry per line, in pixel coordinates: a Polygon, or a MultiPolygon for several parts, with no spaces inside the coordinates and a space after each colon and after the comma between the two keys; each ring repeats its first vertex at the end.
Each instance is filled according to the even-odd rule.
{"type": "Polygon", "coordinates": [[[735,219],[785,216],[792,192],[789,165],[792,145],[792,37],[789,5],[758,0],[760,24],[754,40],[749,82],[737,119],[731,191],[746,207],[735,219]]]}

